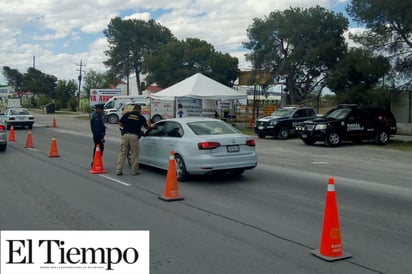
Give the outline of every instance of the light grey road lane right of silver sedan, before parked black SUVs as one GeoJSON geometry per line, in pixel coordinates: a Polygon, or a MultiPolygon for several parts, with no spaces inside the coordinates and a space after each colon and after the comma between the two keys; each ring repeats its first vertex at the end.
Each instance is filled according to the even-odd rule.
{"type": "Polygon", "coordinates": [[[313,171],[354,180],[373,178],[383,184],[411,186],[411,152],[370,143],[344,143],[337,148],[325,147],[322,143],[308,146],[298,138],[259,139],[256,149],[260,163],[294,168],[297,172],[313,171]]]}

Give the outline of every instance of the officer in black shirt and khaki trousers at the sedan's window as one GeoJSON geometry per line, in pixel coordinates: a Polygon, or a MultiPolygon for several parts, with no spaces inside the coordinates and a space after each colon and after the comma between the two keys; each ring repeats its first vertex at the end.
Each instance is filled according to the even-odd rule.
{"type": "Polygon", "coordinates": [[[119,159],[116,166],[116,175],[123,175],[124,161],[126,155],[130,151],[130,162],[132,168],[132,175],[139,175],[139,136],[141,134],[142,126],[146,129],[146,118],[140,114],[140,106],[135,105],[133,110],[125,113],[120,119],[119,125],[123,127],[119,159]]]}

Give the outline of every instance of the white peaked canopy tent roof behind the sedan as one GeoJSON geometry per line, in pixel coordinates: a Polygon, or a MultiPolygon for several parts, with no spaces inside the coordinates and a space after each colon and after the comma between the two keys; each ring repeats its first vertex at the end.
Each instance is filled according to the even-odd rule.
{"type": "Polygon", "coordinates": [[[197,99],[246,99],[247,95],[229,88],[201,73],[180,81],[173,86],[152,94],[153,98],[191,97],[197,99]]]}

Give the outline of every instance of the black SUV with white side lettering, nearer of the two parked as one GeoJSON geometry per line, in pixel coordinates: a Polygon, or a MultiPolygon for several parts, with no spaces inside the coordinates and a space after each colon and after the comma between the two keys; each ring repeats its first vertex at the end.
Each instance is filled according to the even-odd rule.
{"type": "Polygon", "coordinates": [[[296,127],[305,144],[323,141],[330,147],[339,146],[342,141],[363,140],[385,145],[396,130],[395,117],[389,110],[358,105],[339,105],[322,118],[305,121],[296,127]]]}

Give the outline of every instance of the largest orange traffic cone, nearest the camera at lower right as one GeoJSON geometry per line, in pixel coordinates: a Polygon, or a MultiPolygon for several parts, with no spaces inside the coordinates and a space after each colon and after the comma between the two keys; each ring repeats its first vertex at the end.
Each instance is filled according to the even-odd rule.
{"type": "Polygon", "coordinates": [[[329,178],[328,181],[320,248],[312,250],[311,253],[329,262],[352,257],[351,254],[344,253],[342,248],[335,182],[333,178],[329,178]]]}

